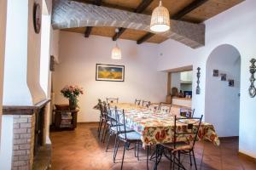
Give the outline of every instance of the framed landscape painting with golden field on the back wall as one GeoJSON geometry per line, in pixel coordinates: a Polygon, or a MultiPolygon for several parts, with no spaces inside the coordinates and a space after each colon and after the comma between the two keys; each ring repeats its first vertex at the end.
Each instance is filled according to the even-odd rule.
{"type": "Polygon", "coordinates": [[[96,64],[96,81],[124,82],[125,65],[96,64]]]}

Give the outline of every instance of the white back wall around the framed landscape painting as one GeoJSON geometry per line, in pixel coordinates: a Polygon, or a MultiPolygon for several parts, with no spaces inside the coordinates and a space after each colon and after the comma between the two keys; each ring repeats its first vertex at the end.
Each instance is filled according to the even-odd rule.
{"type": "Polygon", "coordinates": [[[79,122],[96,122],[99,111],[92,108],[97,99],[119,97],[120,102],[148,99],[153,102],[166,99],[164,72],[156,71],[157,46],[151,43],[137,45],[134,41],[119,40],[121,60],[111,59],[115,42],[109,37],[90,36],[61,31],[60,64],[54,72],[55,103],[67,103],[60,90],[65,85],[79,85],[84,95],[79,98],[79,122]],[[96,64],[125,65],[125,82],[96,81],[96,64]]]}

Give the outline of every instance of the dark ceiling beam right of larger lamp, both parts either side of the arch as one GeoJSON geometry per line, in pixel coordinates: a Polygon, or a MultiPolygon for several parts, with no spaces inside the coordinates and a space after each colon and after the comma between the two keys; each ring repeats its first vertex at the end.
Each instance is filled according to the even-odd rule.
{"type": "MultiPolygon", "coordinates": [[[[180,11],[177,12],[177,14],[173,14],[173,16],[171,17],[172,20],[180,20],[181,18],[183,18],[183,16],[185,14],[189,14],[189,12],[191,12],[192,10],[194,10],[195,8],[200,7],[203,3],[207,3],[208,0],[195,0],[192,3],[189,3],[188,6],[186,6],[185,8],[181,9],[180,11]]],[[[151,32],[148,32],[148,34],[146,34],[144,37],[140,38],[137,41],[137,44],[141,44],[145,41],[147,41],[150,37],[153,37],[154,35],[152,35],[151,32]],[[146,38],[145,38],[146,37],[146,38]]]]}

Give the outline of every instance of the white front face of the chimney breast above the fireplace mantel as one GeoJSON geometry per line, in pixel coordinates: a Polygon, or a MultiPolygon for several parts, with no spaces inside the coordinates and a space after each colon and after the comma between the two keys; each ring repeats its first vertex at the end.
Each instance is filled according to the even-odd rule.
{"type": "Polygon", "coordinates": [[[27,0],[8,1],[3,105],[32,105],[32,96],[26,84],[27,11],[27,0]]]}

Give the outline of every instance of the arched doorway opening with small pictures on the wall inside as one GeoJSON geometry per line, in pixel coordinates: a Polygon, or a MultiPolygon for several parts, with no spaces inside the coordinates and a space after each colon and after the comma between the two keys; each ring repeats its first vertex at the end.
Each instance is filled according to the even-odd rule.
{"type": "Polygon", "coordinates": [[[220,137],[239,136],[240,53],[229,44],[214,48],[207,59],[206,71],[206,122],[216,127],[220,137]],[[213,70],[218,70],[215,77],[213,70]],[[225,81],[221,74],[226,74],[225,81]]]}

